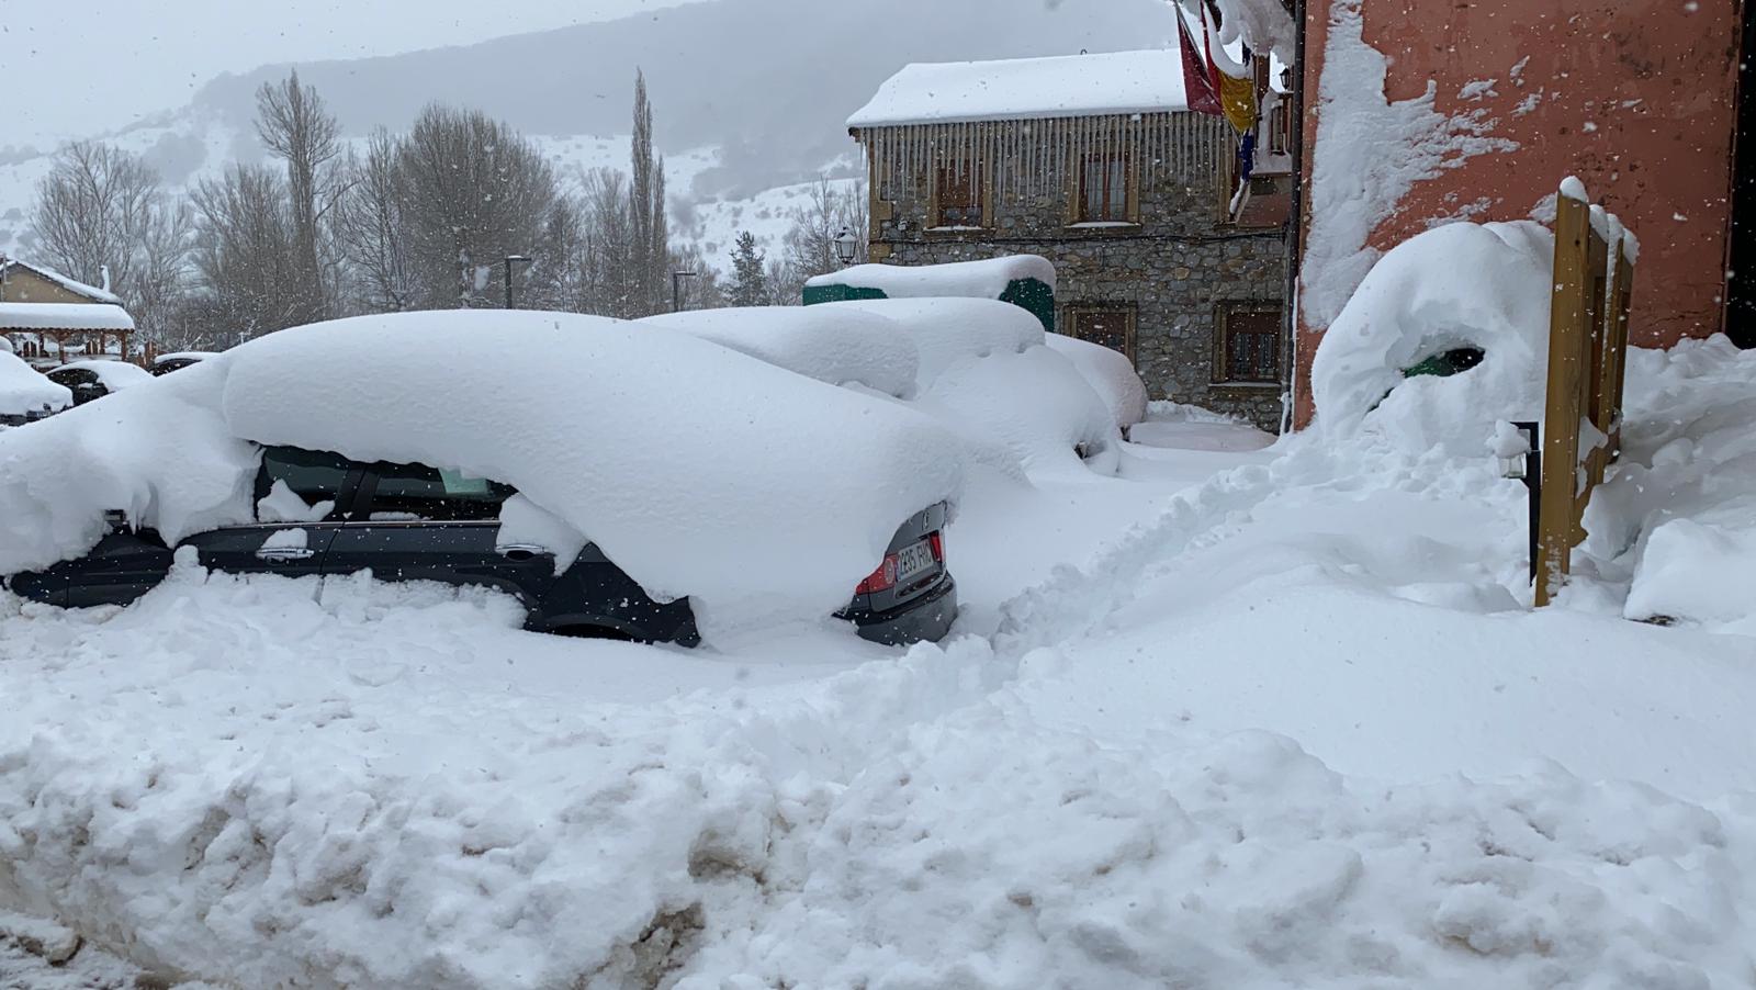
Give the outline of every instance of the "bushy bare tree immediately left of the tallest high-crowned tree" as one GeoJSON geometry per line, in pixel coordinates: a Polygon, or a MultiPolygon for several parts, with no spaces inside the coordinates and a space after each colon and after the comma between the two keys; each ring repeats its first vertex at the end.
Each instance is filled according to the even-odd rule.
{"type": "Polygon", "coordinates": [[[223,337],[256,337],[304,321],[295,226],[281,179],[262,165],[232,165],[195,190],[195,319],[223,337]]]}

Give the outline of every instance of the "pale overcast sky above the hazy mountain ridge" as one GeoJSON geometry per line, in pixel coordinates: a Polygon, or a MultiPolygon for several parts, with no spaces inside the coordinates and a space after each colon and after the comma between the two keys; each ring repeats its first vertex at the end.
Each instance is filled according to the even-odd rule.
{"type": "Polygon", "coordinates": [[[681,2],[0,0],[0,93],[7,104],[0,149],[116,130],[186,104],[221,72],[269,61],[469,44],[681,2]]]}

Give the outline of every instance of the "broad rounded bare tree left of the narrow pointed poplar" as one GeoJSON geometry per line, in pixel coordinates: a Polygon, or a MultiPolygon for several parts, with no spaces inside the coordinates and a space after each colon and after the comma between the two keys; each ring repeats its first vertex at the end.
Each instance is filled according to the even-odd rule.
{"type": "Polygon", "coordinates": [[[478,269],[536,249],[557,197],[548,161],[506,123],[434,104],[397,170],[414,305],[492,305],[478,269]]]}

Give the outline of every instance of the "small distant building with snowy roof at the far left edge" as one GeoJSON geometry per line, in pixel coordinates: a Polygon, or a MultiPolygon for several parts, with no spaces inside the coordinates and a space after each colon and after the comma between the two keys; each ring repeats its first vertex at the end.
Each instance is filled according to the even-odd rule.
{"type": "Polygon", "coordinates": [[[133,356],[133,318],[121,297],[5,256],[0,256],[0,335],[33,367],[133,356]]]}

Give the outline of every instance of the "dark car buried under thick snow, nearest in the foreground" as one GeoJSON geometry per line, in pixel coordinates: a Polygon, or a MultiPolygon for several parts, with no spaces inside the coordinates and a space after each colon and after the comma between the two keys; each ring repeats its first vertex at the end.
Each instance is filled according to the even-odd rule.
{"type": "Polygon", "coordinates": [[[19,595],[123,604],[188,548],[225,572],[485,585],[529,628],[681,644],[829,614],[911,642],[957,611],[941,535],[955,441],[681,334],[355,318],[104,405],[0,441],[42,472],[0,477],[0,572],[19,595]],[[68,456],[49,463],[53,446],[68,456]]]}

